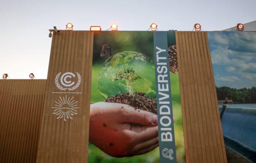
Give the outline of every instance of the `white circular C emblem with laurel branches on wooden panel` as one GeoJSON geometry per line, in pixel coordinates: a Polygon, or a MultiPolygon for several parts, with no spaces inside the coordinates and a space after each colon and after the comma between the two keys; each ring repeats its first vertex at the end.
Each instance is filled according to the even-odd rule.
{"type": "Polygon", "coordinates": [[[68,81],[67,78],[74,78],[74,77],[76,77],[76,75],[73,74],[72,72],[66,72],[62,75],[61,75],[61,72],[58,73],[55,78],[55,84],[56,84],[57,88],[60,89],[61,91],[65,91],[67,89],[69,91],[73,91],[73,90],[77,89],[79,87],[79,85],[81,84],[81,75],[78,72],[76,72],[76,74],[77,74],[77,78],[78,78],[76,85],[73,86],[72,88],[63,88],[61,85],[65,86],[65,87],[71,87],[72,85],[74,85],[75,82],[68,81]],[[61,75],[61,79],[60,79],[61,85],[58,82],[60,75],[61,75]]]}

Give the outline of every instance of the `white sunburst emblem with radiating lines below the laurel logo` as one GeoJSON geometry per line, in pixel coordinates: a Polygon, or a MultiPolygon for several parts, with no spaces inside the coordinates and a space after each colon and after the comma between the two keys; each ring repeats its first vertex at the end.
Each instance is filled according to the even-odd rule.
{"type": "Polygon", "coordinates": [[[60,97],[58,101],[54,101],[55,102],[54,106],[56,107],[52,107],[52,109],[54,109],[53,114],[57,116],[57,119],[64,118],[64,121],[66,121],[66,118],[73,119],[72,116],[78,114],[76,110],[76,109],[79,109],[79,107],[77,107],[78,101],[75,102],[73,98],[74,97],[70,99],[69,97],[67,99],[67,96],[66,96],[63,98],[60,97]]]}

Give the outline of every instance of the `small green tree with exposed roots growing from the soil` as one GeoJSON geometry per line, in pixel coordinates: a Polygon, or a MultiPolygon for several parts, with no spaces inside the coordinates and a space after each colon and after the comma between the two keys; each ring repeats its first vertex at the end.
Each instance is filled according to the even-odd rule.
{"type": "Polygon", "coordinates": [[[115,77],[113,78],[114,81],[116,80],[122,80],[125,79],[126,80],[126,87],[129,88],[129,96],[133,96],[134,97],[134,93],[133,93],[133,88],[130,86],[131,82],[134,82],[135,80],[141,78],[139,76],[139,74],[137,72],[135,72],[133,70],[133,68],[128,67],[128,68],[123,68],[121,71],[119,71],[119,73],[117,73],[115,75],[115,77]]]}

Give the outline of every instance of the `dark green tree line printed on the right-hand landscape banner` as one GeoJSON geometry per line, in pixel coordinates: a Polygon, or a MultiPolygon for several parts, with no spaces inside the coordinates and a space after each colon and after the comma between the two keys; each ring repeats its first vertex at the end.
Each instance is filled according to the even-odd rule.
{"type": "Polygon", "coordinates": [[[235,89],[230,87],[217,87],[218,100],[232,99],[234,103],[256,103],[256,87],[235,89]]]}

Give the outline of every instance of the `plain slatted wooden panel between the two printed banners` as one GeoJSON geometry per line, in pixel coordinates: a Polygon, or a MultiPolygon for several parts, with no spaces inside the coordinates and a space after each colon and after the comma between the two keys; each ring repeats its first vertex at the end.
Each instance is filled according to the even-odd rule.
{"type": "Polygon", "coordinates": [[[207,32],[176,32],[187,163],[227,163],[207,32]]]}

